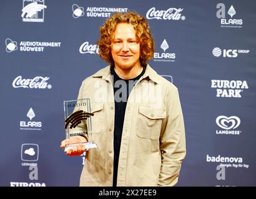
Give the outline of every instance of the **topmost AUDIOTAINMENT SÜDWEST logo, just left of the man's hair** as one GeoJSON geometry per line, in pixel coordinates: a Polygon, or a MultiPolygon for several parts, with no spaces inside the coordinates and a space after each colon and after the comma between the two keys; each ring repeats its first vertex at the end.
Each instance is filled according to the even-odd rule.
{"type": "Polygon", "coordinates": [[[110,17],[114,12],[127,12],[127,7],[84,7],[77,4],[72,5],[72,17],[77,19],[86,15],[86,17],[101,17],[106,18],[110,17]],[[85,12],[86,11],[86,14],[85,12]]]}

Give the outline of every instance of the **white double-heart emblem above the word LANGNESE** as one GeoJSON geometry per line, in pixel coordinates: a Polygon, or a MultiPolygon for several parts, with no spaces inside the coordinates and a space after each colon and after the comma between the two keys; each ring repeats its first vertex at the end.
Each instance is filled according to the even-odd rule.
{"type": "Polygon", "coordinates": [[[216,118],[216,124],[225,130],[236,129],[241,121],[237,116],[219,116],[216,118]]]}

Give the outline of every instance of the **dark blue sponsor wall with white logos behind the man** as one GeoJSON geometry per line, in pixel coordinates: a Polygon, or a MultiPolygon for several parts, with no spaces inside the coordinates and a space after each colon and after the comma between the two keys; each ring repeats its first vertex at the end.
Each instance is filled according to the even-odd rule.
{"type": "Polygon", "coordinates": [[[99,27],[149,21],[149,64],[179,88],[187,156],[178,186],[256,186],[256,2],[4,0],[0,11],[0,186],[78,186],[81,157],[59,148],[64,100],[105,67],[99,27]],[[195,6],[197,2],[197,6],[195,6]],[[67,171],[63,175],[63,171],[67,171]]]}

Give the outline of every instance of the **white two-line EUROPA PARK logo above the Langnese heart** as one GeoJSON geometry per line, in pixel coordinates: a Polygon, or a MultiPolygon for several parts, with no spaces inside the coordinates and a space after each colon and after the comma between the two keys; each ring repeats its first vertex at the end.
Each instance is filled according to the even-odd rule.
{"type": "Polygon", "coordinates": [[[211,80],[211,88],[216,89],[217,98],[242,98],[242,92],[249,89],[247,81],[211,80]]]}

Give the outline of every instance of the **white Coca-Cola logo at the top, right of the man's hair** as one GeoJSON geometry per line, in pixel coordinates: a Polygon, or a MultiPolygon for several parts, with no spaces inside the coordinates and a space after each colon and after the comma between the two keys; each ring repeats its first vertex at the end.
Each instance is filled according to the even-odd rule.
{"type": "Polygon", "coordinates": [[[185,20],[185,16],[181,16],[180,12],[182,12],[182,8],[170,7],[166,11],[156,10],[155,7],[151,7],[149,11],[147,11],[146,17],[147,19],[164,19],[164,20],[185,20]]]}

